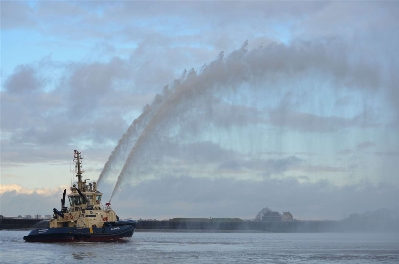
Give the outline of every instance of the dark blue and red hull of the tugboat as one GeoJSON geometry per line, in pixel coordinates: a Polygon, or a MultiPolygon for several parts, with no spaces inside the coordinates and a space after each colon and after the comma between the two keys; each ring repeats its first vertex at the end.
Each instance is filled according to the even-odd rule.
{"type": "Polygon", "coordinates": [[[34,229],[26,242],[128,242],[136,229],[137,220],[105,222],[97,227],[54,227],[34,229]]]}

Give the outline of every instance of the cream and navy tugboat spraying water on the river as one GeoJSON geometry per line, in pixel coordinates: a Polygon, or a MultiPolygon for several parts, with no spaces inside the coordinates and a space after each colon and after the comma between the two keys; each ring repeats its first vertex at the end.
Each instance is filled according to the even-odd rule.
{"type": "Polygon", "coordinates": [[[126,242],[132,238],[137,220],[119,220],[111,201],[103,207],[96,182],[87,185],[88,179],[82,179],[81,154],[75,150],[73,155],[78,181],[69,190],[69,207],[65,207],[65,189],[61,209],[53,209],[49,228],[30,231],[24,236],[26,242],[126,242]]]}

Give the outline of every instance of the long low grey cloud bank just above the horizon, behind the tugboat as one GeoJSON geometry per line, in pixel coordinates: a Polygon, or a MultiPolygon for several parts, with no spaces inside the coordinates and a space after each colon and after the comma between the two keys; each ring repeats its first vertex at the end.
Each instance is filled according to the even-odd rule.
{"type": "MultiPolygon", "coordinates": [[[[107,187],[105,185],[103,189],[107,187]]],[[[102,191],[105,197],[110,195],[102,191]]],[[[290,211],[296,218],[307,219],[342,219],[345,214],[381,207],[397,211],[399,206],[397,186],[368,182],[336,186],[326,181],[299,183],[292,178],[237,181],[165,176],[143,181],[136,187],[126,187],[122,191],[123,195],[118,193],[112,200],[113,209],[120,217],[137,219],[209,215],[249,218],[265,206],[265,201],[277,211],[290,211]]],[[[61,192],[51,197],[6,192],[1,195],[0,213],[10,216],[25,213],[45,215],[51,213],[51,208],[59,207],[61,195],[61,192]],[[21,206],[5,206],[14,203],[21,206]]]]}

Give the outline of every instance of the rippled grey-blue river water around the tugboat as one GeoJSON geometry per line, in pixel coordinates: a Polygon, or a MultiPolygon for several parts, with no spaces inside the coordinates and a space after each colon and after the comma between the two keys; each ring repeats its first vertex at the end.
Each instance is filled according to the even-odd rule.
{"type": "Polygon", "coordinates": [[[0,263],[399,263],[397,233],[135,232],[126,243],[30,243],[0,231],[0,263]]]}

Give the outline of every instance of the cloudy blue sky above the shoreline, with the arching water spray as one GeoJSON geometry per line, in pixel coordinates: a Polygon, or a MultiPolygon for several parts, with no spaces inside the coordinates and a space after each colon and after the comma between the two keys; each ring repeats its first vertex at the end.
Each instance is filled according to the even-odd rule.
{"type": "Polygon", "coordinates": [[[1,1],[0,214],[397,211],[398,3],[1,1]]]}

